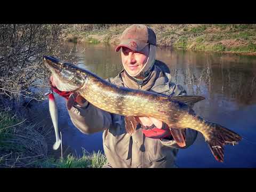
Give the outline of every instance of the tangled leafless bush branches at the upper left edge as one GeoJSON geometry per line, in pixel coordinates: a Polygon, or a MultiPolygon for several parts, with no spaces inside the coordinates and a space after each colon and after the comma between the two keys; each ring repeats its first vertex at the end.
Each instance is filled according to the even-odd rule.
{"type": "Polygon", "coordinates": [[[24,92],[44,74],[42,55],[51,53],[65,25],[0,25],[0,94],[24,92]]]}

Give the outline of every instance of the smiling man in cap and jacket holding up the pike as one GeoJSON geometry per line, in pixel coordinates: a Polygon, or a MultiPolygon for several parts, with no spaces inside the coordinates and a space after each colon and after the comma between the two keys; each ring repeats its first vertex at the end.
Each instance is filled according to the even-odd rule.
{"type": "MultiPolygon", "coordinates": [[[[186,95],[183,87],[172,83],[170,74],[158,67],[161,61],[155,60],[156,35],[152,29],[132,25],[124,30],[120,40],[116,52],[121,50],[124,70],[108,78],[108,82],[170,97],[186,95]]],[[[52,84],[55,83],[52,79],[52,84]]],[[[132,119],[108,113],[82,100],[78,95],[77,103],[68,112],[81,132],[103,131],[103,148],[108,161],[103,167],[175,167],[178,149],[192,145],[197,136],[191,129],[170,131],[165,123],[151,117],[134,117],[138,124],[129,134],[132,119]],[[180,138],[180,143],[174,138],[180,138]]]]}

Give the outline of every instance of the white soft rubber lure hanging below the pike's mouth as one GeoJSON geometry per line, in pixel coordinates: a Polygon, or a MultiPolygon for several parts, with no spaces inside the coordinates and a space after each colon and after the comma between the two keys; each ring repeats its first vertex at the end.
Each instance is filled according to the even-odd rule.
{"type": "Polygon", "coordinates": [[[61,139],[59,137],[59,131],[58,131],[58,110],[57,110],[57,105],[55,102],[53,92],[50,91],[48,95],[49,95],[49,110],[50,110],[50,115],[52,118],[52,124],[54,127],[55,137],[56,137],[56,142],[54,143],[52,148],[54,150],[57,150],[61,144],[61,139]]]}

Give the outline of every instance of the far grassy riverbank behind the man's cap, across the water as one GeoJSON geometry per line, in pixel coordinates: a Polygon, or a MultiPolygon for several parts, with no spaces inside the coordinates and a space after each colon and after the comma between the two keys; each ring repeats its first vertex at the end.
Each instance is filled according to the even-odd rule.
{"type": "MultiPolygon", "coordinates": [[[[63,30],[61,39],[74,43],[108,43],[117,45],[119,36],[130,25],[92,24],[63,30]]],[[[151,24],[157,36],[158,46],[171,46],[187,51],[211,51],[256,55],[256,25],[231,24],[151,24]]]]}

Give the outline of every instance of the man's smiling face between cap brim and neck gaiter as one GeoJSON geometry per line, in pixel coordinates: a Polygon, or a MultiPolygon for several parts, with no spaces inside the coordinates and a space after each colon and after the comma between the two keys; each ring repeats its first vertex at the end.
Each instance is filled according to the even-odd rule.
{"type": "Polygon", "coordinates": [[[136,75],[146,64],[149,54],[149,46],[147,45],[140,52],[134,52],[127,47],[122,47],[121,58],[125,69],[130,75],[136,75]]]}

